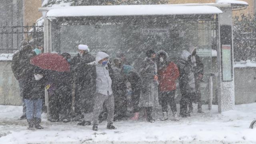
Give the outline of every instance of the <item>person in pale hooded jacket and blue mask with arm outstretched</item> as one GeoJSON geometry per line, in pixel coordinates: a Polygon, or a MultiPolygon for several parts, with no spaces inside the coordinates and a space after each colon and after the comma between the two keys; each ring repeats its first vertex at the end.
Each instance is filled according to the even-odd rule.
{"type": "Polygon", "coordinates": [[[94,84],[94,109],[93,109],[93,126],[92,130],[98,130],[98,118],[103,110],[103,104],[107,108],[107,128],[115,129],[113,125],[114,120],[114,96],[112,90],[112,79],[109,73],[109,55],[105,52],[98,52],[96,55],[96,60],[87,64],[91,66],[88,68],[92,74],[96,76],[91,76],[90,82],[94,84]]]}

